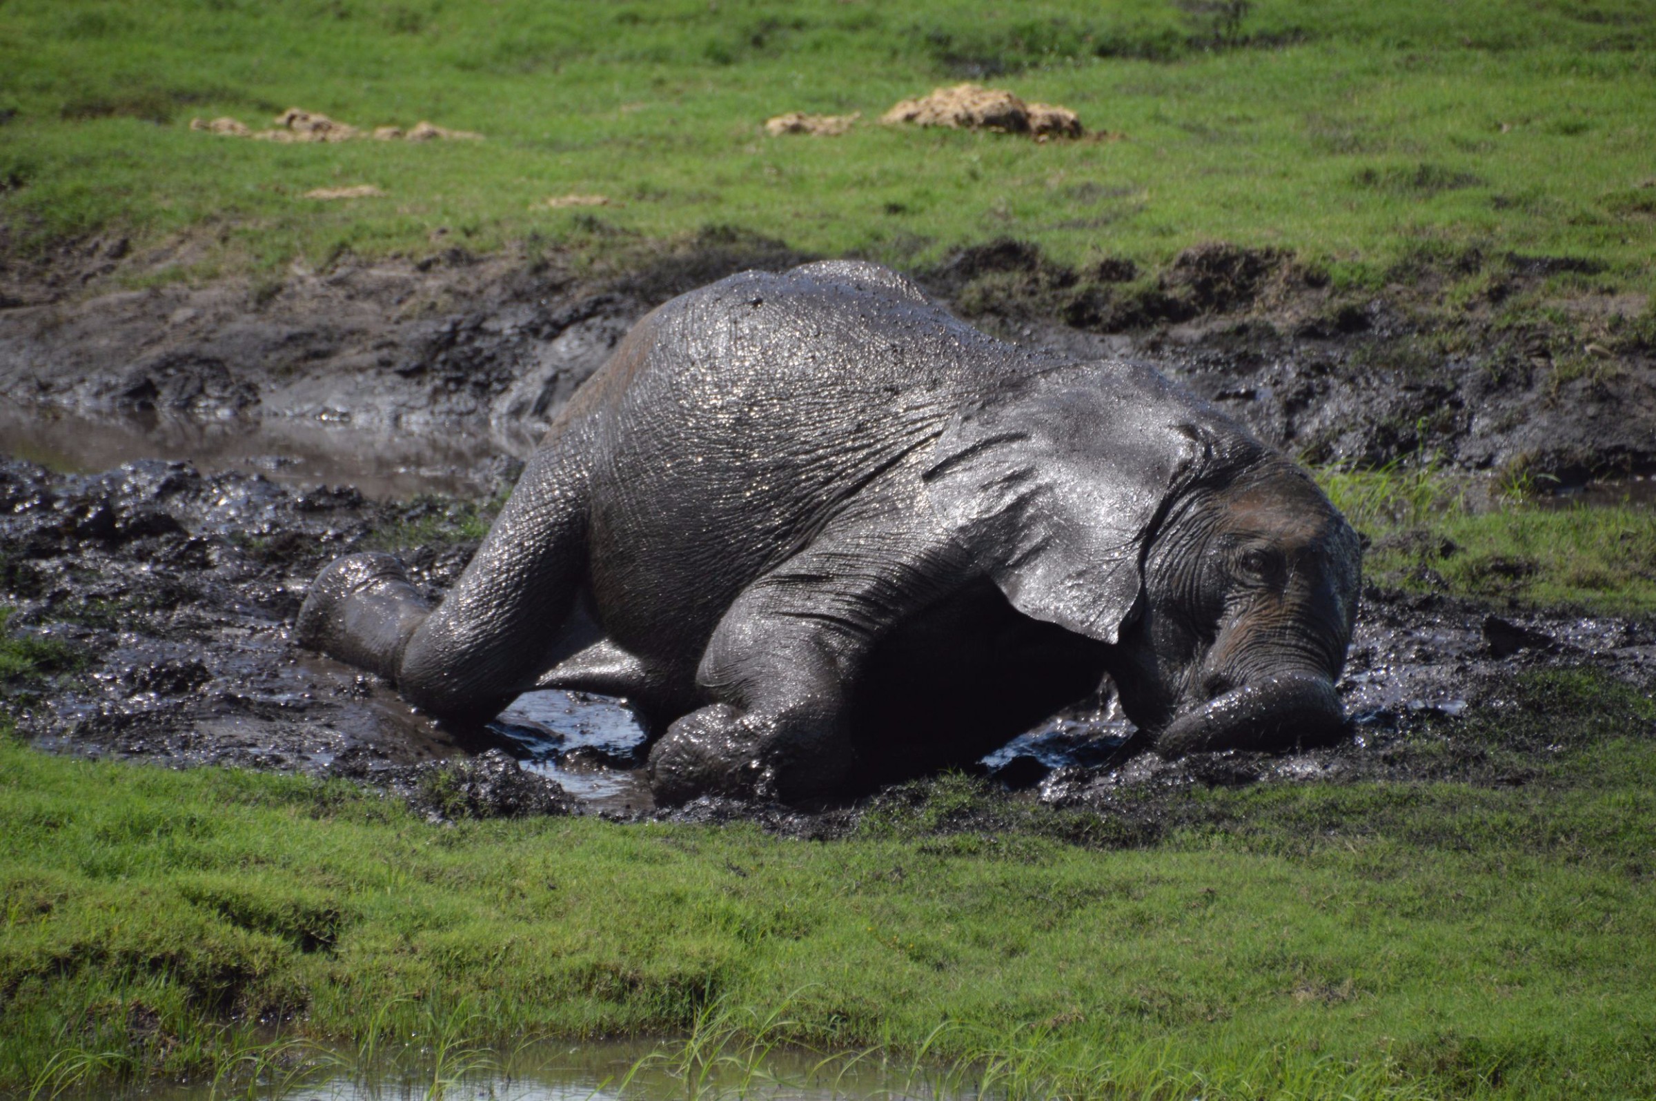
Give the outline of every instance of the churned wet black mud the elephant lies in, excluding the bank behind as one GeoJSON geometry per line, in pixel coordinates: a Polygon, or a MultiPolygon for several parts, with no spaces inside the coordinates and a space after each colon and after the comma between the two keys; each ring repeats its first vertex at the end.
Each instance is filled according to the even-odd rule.
{"type": "MultiPolygon", "coordinates": [[[[404,556],[416,583],[439,596],[475,550],[444,508],[204,475],[179,462],[70,475],[0,460],[0,606],[15,608],[10,631],[63,654],[45,679],[7,685],[20,733],[83,755],[348,776],[444,818],[654,813],[636,772],[641,732],[613,700],[532,694],[487,728],[452,730],[374,677],[293,644],[316,570],[386,531],[421,533],[404,556]]],[[[1371,588],[1341,684],[1355,719],[1340,745],[1164,762],[1139,752],[1119,719],[1066,714],[980,772],[1048,803],[1096,810],[1189,785],[1423,776],[1441,760],[1411,763],[1391,747],[1423,724],[1454,742],[1457,722],[1512,705],[1514,676],[1562,667],[1648,684],[1656,629],[1615,618],[1504,619],[1371,588]]],[[[856,810],[797,815],[702,800],[672,816],[747,816],[820,834],[845,828],[856,810]]]]}

